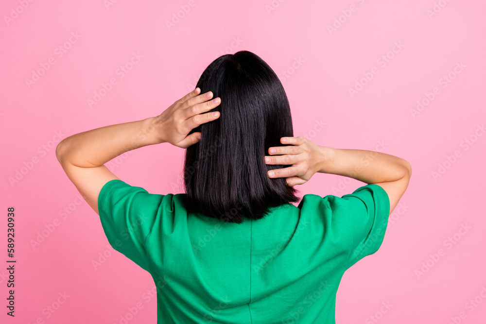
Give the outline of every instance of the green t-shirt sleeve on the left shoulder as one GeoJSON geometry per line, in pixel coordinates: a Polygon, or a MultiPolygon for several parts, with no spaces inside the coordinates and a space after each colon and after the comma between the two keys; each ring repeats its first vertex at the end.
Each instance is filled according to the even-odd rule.
{"type": "Polygon", "coordinates": [[[149,271],[145,240],[156,222],[163,195],[149,194],[115,179],[108,181],[98,197],[98,211],[108,242],[142,269],[149,271]]]}

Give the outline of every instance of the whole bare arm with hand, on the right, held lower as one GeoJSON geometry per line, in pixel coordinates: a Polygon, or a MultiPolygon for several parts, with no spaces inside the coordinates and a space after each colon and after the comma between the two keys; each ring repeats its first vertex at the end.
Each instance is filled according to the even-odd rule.
{"type": "Polygon", "coordinates": [[[319,146],[304,137],[282,137],[280,141],[291,146],[269,148],[269,154],[281,155],[265,156],[265,162],[292,166],[268,171],[269,177],[286,177],[287,184],[295,186],[307,182],[316,172],[321,172],[376,184],[388,194],[390,213],[398,205],[412,175],[410,163],[394,155],[319,146]]]}

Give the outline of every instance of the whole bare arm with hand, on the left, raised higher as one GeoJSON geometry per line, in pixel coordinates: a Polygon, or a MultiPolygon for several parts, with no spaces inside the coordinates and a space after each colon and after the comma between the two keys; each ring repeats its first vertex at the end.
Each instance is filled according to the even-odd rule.
{"type": "Polygon", "coordinates": [[[99,213],[98,196],[110,180],[119,179],[104,163],[143,146],[169,142],[187,148],[199,141],[200,132],[189,132],[219,118],[207,113],[221,103],[212,92],[198,95],[199,88],[177,100],[157,117],[104,126],[69,136],[56,148],[56,156],[69,180],[88,205],[99,213]]]}

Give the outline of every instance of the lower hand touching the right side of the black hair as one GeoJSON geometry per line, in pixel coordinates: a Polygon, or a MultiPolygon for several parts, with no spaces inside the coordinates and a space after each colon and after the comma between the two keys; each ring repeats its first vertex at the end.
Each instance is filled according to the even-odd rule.
{"type": "Polygon", "coordinates": [[[280,142],[292,146],[268,148],[271,156],[265,155],[265,164],[292,166],[268,171],[270,178],[287,178],[287,186],[293,187],[306,183],[312,175],[322,170],[326,147],[319,146],[302,136],[281,137],[280,142]]]}

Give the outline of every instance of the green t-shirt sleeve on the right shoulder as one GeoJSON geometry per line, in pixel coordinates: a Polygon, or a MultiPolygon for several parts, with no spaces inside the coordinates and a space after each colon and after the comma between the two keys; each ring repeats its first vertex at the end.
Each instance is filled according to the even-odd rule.
{"type": "Polygon", "coordinates": [[[378,251],[382,245],[390,200],[386,191],[375,184],[354,190],[341,198],[345,202],[347,224],[351,231],[352,248],[347,267],[378,251]]]}

